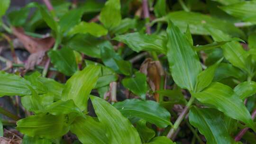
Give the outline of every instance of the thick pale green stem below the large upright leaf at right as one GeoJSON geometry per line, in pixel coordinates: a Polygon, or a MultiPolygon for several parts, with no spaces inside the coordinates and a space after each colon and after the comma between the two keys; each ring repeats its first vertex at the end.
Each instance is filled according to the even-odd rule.
{"type": "Polygon", "coordinates": [[[180,126],[181,122],[183,121],[183,118],[186,116],[186,114],[189,111],[190,106],[193,104],[194,101],[194,97],[191,97],[187,103],[187,105],[185,106],[185,108],[183,109],[182,113],[180,114],[180,116],[176,119],[173,128],[170,129],[169,133],[167,134],[168,138],[172,138],[172,136],[174,135],[175,131],[177,130],[177,128],[180,126]]]}

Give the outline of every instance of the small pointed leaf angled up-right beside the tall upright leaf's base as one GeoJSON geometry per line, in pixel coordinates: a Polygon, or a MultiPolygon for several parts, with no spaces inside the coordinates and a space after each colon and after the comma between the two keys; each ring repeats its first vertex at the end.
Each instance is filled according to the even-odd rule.
{"type": "Polygon", "coordinates": [[[223,60],[220,59],[218,62],[215,64],[211,65],[208,67],[206,70],[200,72],[197,76],[196,80],[196,91],[199,92],[203,90],[204,88],[208,87],[211,81],[213,80],[214,73],[216,68],[219,66],[219,63],[223,60]]]}

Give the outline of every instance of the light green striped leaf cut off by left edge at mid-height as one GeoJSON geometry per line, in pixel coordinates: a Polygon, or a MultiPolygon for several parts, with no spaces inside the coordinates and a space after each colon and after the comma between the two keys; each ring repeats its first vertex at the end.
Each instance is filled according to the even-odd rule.
{"type": "Polygon", "coordinates": [[[18,75],[0,71],[0,80],[0,97],[31,94],[30,89],[27,87],[30,82],[18,75]]]}

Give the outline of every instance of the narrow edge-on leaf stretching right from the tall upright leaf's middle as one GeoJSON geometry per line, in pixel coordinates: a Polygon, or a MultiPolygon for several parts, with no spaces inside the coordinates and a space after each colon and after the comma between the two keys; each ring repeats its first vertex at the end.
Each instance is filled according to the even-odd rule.
{"type": "MultiPolygon", "coordinates": [[[[213,43],[207,44],[207,45],[197,45],[197,46],[194,46],[194,49],[195,49],[196,51],[211,50],[211,49],[220,47],[220,46],[225,45],[226,43],[229,43],[229,42],[232,42],[232,41],[241,41],[241,42],[244,42],[242,39],[237,38],[237,37],[234,37],[234,38],[231,38],[229,41],[213,42],[213,43]]],[[[245,43],[245,42],[244,42],[244,43],[245,43]]]]}

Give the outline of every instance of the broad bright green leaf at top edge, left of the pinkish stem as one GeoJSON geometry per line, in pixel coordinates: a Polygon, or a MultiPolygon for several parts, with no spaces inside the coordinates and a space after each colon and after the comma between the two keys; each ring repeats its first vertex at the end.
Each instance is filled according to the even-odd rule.
{"type": "Polygon", "coordinates": [[[108,29],[119,26],[122,19],[120,9],[120,0],[108,0],[101,9],[101,23],[108,29]]]}

